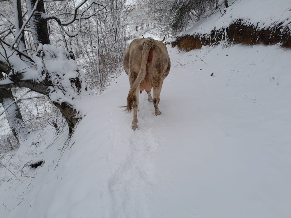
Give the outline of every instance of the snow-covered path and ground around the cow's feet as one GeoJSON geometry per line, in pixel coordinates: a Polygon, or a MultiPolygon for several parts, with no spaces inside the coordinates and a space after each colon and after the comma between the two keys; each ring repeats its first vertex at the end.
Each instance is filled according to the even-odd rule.
{"type": "Polygon", "coordinates": [[[79,102],[86,117],[57,167],[68,132],[29,147],[23,161],[45,163],[26,168],[35,178],[1,183],[1,217],[290,217],[291,51],[168,50],[162,115],[143,92],[131,130],[132,113],[118,108],[129,90],[122,74],[79,102]]]}

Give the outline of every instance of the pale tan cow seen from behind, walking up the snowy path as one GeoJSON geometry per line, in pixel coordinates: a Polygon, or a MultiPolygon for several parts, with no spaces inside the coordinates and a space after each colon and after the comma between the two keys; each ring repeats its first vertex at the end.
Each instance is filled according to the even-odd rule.
{"type": "MultiPolygon", "coordinates": [[[[165,38],[164,38],[165,39],[165,38]]],[[[139,129],[137,108],[139,106],[139,92],[145,90],[148,101],[154,102],[155,115],[160,115],[159,101],[164,78],[168,76],[171,61],[166,45],[162,41],[151,37],[133,40],[123,56],[123,67],[128,75],[130,90],[127,96],[126,110],[133,108],[132,129],[139,129]],[[153,97],[150,94],[153,88],[153,97]]]]}

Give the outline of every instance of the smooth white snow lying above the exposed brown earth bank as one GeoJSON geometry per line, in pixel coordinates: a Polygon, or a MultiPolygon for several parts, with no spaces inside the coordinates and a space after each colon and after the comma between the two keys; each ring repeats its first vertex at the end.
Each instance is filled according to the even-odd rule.
{"type": "MultiPolygon", "coordinates": [[[[268,27],[284,26],[285,30],[291,30],[291,2],[290,0],[261,1],[261,0],[236,0],[226,8],[226,13],[221,15],[219,10],[200,19],[194,26],[182,34],[209,34],[213,29],[221,29],[229,26],[238,19],[243,20],[246,26],[254,25],[258,30],[268,27]]],[[[225,8],[220,6],[223,11],[225,8]]]]}

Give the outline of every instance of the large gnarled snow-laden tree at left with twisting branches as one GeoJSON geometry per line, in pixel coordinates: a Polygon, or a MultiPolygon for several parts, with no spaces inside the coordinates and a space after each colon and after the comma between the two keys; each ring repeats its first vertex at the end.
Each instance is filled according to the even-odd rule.
{"type": "MultiPolygon", "coordinates": [[[[86,94],[86,81],[71,51],[56,49],[49,45],[47,22],[54,20],[66,35],[75,37],[80,32],[81,22],[106,13],[106,5],[95,1],[88,3],[87,0],[83,0],[74,8],[74,12],[64,11],[59,15],[47,15],[43,0],[27,0],[26,6],[27,17],[21,28],[19,28],[21,22],[18,22],[19,30],[14,31],[13,28],[17,25],[8,22],[6,25],[8,30],[4,29],[4,32],[1,32],[4,34],[0,34],[0,64],[10,69],[7,76],[0,80],[0,88],[26,87],[46,95],[62,112],[68,123],[69,132],[72,133],[81,117],[73,99],[86,94]],[[94,12],[91,10],[93,6],[96,6],[94,12]],[[62,21],[63,15],[70,18],[62,21]],[[22,42],[19,39],[22,38],[28,24],[30,24],[33,43],[37,48],[33,58],[23,51],[23,47],[19,47],[22,42]],[[69,25],[77,26],[77,28],[66,28],[69,25]],[[10,35],[10,42],[5,41],[5,38],[13,32],[15,34],[10,35]]],[[[15,17],[20,17],[18,10],[18,6],[15,7],[15,14],[17,14],[15,17]]],[[[7,17],[2,13],[1,16],[7,17]]]]}

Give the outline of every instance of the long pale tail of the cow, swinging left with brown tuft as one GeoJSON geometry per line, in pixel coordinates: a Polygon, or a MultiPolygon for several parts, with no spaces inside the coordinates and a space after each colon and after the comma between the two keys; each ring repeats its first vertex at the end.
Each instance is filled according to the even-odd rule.
{"type": "Polygon", "coordinates": [[[146,40],[145,44],[143,44],[143,51],[141,54],[141,69],[139,70],[139,74],[137,75],[134,83],[132,84],[132,86],[128,92],[127,106],[126,106],[127,111],[132,110],[132,98],[133,98],[134,92],[136,91],[139,84],[145,79],[148,56],[149,56],[149,52],[150,52],[150,49],[152,48],[153,44],[154,44],[154,41],[151,38],[146,40]]]}

